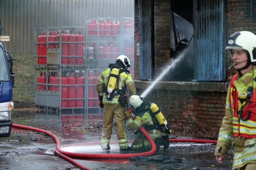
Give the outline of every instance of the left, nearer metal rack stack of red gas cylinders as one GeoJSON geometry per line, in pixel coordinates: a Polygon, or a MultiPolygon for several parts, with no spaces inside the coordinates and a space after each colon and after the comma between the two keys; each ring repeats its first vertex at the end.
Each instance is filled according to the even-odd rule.
{"type": "Polygon", "coordinates": [[[35,28],[35,104],[85,111],[85,27],[35,28]]]}

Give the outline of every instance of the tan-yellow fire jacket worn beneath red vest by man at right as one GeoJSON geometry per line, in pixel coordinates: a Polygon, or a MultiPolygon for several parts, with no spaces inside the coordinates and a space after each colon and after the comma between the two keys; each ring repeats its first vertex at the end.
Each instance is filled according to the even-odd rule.
{"type": "MultiPolygon", "coordinates": [[[[253,86],[253,89],[256,88],[256,82],[253,80],[256,77],[256,69],[245,73],[244,75],[237,75],[237,80],[234,81],[234,86],[237,92],[247,93],[249,86],[253,86]]],[[[241,168],[247,163],[256,163],[256,138],[246,138],[241,137],[241,135],[234,137],[233,133],[237,132],[237,126],[233,125],[234,121],[238,121],[240,124],[243,124],[243,121],[240,119],[237,120],[234,116],[234,106],[233,99],[230,97],[232,88],[228,88],[228,94],[226,97],[226,112],[225,117],[223,118],[221,128],[219,130],[218,142],[215,149],[214,155],[224,155],[227,153],[230,146],[234,146],[234,161],[233,168],[241,168]],[[231,101],[230,101],[231,99],[231,101]]],[[[254,93],[255,94],[255,93],[254,93]]],[[[256,102],[256,101],[252,101],[256,102]]],[[[254,108],[256,110],[256,108],[254,108]]],[[[254,113],[251,113],[250,116],[256,116],[254,113]]],[[[256,122],[246,121],[247,124],[250,124],[252,128],[256,128],[256,122]]]]}

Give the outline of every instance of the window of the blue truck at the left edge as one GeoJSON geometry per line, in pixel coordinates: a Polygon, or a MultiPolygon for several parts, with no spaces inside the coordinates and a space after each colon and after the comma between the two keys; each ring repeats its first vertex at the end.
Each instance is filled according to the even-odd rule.
{"type": "Polygon", "coordinates": [[[0,81],[10,81],[9,80],[9,70],[6,63],[6,56],[4,51],[0,48],[0,81]]]}

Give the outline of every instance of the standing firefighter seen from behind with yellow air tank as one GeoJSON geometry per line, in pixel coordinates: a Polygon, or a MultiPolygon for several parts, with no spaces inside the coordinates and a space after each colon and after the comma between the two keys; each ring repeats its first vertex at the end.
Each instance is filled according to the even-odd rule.
{"type": "Polygon", "coordinates": [[[112,134],[113,118],[117,125],[117,139],[121,151],[128,150],[128,139],[125,129],[125,110],[127,97],[125,90],[136,93],[132,75],[127,70],[131,63],[128,57],[120,55],[114,64],[104,70],[97,83],[97,91],[100,100],[100,108],[104,108],[103,128],[100,137],[100,146],[103,150],[109,150],[109,141],[112,134]]]}

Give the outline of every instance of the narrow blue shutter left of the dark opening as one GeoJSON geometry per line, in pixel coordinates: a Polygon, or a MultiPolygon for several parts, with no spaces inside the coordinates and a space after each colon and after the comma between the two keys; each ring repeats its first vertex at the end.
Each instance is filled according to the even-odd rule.
{"type": "Polygon", "coordinates": [[[139,1],[139,75],[141,80],[151,80],[151,1],[139,1]]]}

